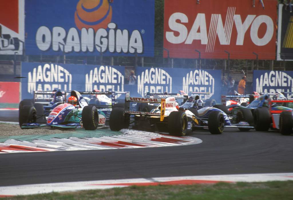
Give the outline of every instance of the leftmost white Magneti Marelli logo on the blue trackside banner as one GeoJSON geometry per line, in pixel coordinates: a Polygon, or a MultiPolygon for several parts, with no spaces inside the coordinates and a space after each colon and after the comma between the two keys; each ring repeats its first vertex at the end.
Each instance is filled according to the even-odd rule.
{"type": "Polygon", "coordinates": [[[36,90],[71,90],[72,75],[57,64],[44,64],[28,72],[28,92],[36,90]]]}

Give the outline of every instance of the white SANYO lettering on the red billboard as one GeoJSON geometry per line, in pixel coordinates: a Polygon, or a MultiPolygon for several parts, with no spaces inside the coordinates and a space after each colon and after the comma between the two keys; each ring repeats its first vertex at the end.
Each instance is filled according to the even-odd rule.
{"type": "MultiPolygon", "coordinates": [[[[251,41],[257,46],[267,45],[274,34],[274,22],[267,15],[247,15],[246,17],[235,14],[236,7],[228,7],[226,21],[223,24],[221,14],[212,14],[207,31],[207,21],[205,13],[197,13],[190,30],[184,24],[189,19],[184,13],[173,13],[168,26],[172,31],[166,32],[166,39],[172,44],[189,44],[194,40],[200,40],[202,45],[207,45],[205,51],[213,52],[215,40],[218,36],[220,45],[230,45],[232,31],[237,31],[236,45],[243,45],[244,37],[250,34],[251,41]],[[262,23],[265,23],[267,29],[263,37],[258,37],[258,30],[262,23]],[[233,26],[235,24],[235,28],[233,26]],[[250,33],[247,31],[250,30],[250,33]]],[[[208,17],[209,18],[209,17],[208,17]]]]}

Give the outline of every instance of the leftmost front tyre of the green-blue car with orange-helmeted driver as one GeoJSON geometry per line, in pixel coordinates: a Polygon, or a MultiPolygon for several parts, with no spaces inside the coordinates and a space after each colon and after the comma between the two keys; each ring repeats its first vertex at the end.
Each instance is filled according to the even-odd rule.
{"type": "Polygon", "coordinates": [[[37,110],[31,105],[24,105],[19,111],[19,126],[21,127],[23,123],[34,123],[37,119],[37,110]]]}

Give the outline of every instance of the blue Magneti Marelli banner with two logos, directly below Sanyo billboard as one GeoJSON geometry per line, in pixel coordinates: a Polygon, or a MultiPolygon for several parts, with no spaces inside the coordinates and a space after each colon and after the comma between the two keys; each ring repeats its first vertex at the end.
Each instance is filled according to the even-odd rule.
{"type": "MultiPolygon", "coordinates": [[[[144,96],[151,93],[179,93],[185,91],[209,92],[214,99],[220,98],[221,71],[178,68],[137,67],[137,93],[144,96]]],[[[202,95],[201,98],[206,98],[202,95]]]]}

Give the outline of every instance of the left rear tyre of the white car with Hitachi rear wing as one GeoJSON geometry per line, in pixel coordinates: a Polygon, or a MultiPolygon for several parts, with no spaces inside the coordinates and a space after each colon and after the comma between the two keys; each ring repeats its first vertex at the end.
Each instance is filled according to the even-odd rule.
{"type": "Polygon", "coordinates": [[[124,108],[113,108],[110,114],[111,131],[120,131],[129,127],[130,115],[124,113],[124,108]]]}

